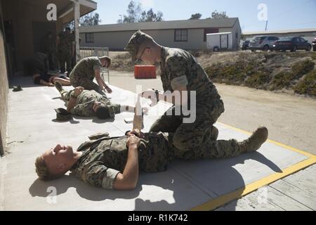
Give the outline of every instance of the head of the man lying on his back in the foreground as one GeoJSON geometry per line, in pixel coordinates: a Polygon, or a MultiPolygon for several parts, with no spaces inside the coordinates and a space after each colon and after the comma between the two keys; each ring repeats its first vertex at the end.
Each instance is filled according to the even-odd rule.
{"type": "Polygon", "coordinates": [[[35,160],[35,168],[40,179],[47,181],[63,176],[75,162],[72,146],[60,146],[46,150],[35,160]]]}

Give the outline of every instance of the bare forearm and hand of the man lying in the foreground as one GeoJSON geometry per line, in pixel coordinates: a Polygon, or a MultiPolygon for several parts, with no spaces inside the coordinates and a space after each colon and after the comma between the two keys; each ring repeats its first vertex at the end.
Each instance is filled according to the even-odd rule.
{"type": "Polygon", "coordinates": [[[126,144],[129,147],[129,154],[123,174],[117,174],[117,177],[114,180],[113,188],[116,190],[135,189],[138,182],[138,146],[140,144],[140,139],[131,135],[126,144]]]}

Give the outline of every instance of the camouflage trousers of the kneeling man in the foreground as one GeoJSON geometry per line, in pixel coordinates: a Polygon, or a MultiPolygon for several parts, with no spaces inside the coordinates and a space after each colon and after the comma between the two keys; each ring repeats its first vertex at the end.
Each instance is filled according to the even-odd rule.
{"type": "Polygon", "coordinates": [[[210,107],[198,106],[196,120],[192,123],[183,123],[183,116],[170,115],[167,111],[154,122],[150,132],[168,132],[176,158],[199,160],[235,157],[242,153],[237,140],[213,139],[213,124],[223,112],[224,105],[221,100],[210,107]]]}

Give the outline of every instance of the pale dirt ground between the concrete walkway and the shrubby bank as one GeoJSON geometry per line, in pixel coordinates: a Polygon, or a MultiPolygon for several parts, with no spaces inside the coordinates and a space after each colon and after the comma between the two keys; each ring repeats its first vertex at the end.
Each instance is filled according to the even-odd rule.
{"type": "MultiPolygon", "coordinates": [[[[133,92],[136,85],[143,90],[162,90],[160,77],[134,79],[133,72],[111,71],[110,84],[133,92]]],[[[316,154],[315,99],[244,86],[216,84],[216,87],[225,103],[225,113],[219,122],[250,132],[265,125],[269,139],[316,154]]]]}

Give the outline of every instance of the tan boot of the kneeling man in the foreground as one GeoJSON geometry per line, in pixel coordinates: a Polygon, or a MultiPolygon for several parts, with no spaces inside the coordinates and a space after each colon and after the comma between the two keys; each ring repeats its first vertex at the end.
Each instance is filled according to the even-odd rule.
{"type": "Polygon", "coordinates": [[[265,141],[268,139],[268,129],[266,127],[260,127],[249,139],[239,143],[242,153],[251,153],[258,150],[265,141]]]}

